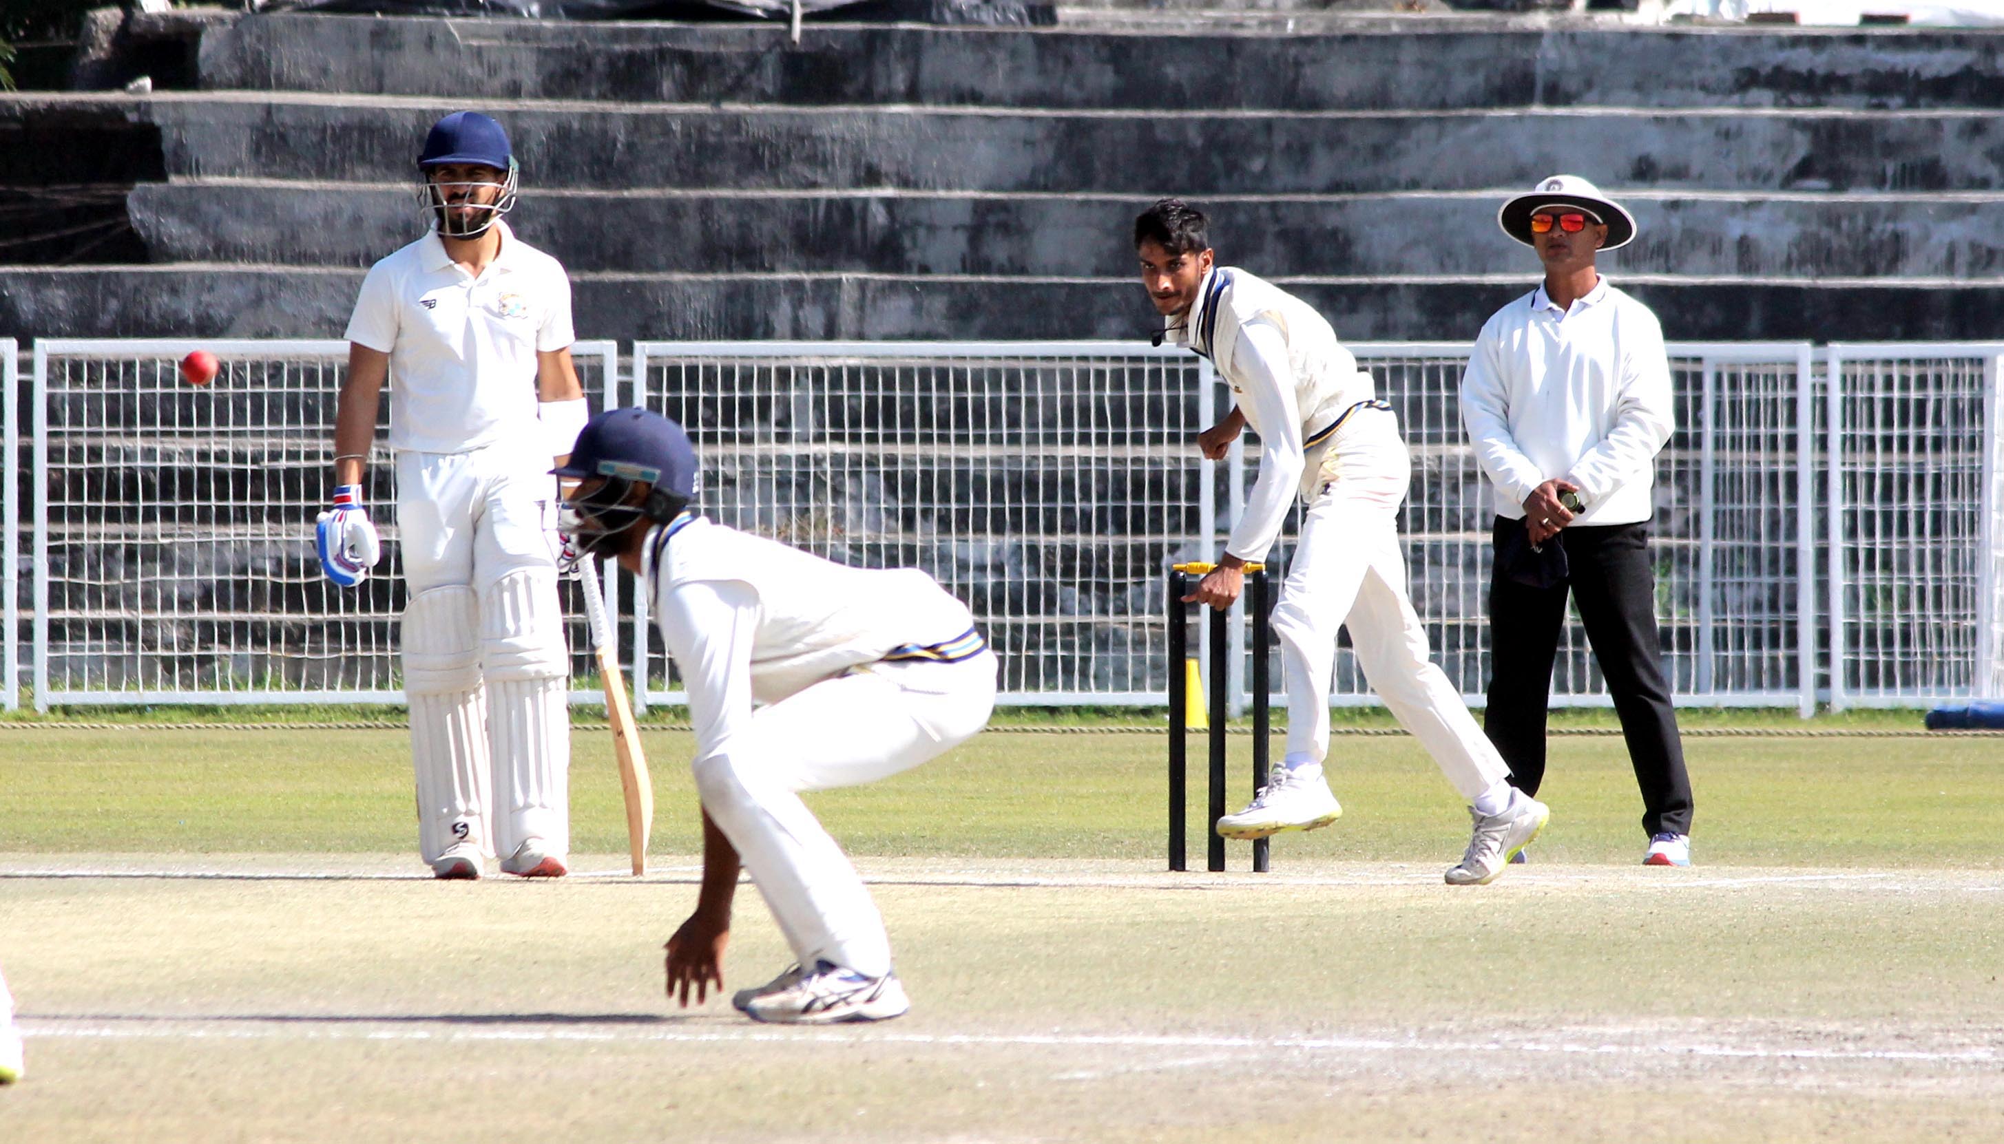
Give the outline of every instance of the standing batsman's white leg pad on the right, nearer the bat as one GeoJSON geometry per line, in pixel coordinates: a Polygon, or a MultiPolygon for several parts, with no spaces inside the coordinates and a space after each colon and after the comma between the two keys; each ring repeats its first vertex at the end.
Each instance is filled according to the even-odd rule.
{"type": "Polygon", "coordinates": [[[487,735],[495,759],[495,851],[541,837],[571,851],[569,653],[555,569],[517,569],[481,599],[487,735]]]}

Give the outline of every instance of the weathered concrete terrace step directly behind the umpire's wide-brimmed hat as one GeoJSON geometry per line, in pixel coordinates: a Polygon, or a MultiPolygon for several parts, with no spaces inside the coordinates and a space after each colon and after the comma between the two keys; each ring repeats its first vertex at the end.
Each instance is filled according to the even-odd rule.
{"type": "MultiPolygon", "coordinates": [[[[1641,238],[1615,272],[2004,276],[2004,192],[1719,194],[1611,186],[1641,238]]],[[[1507,190],[1212,196],[1222,258],[1267,276],[1523,274],[1533,254],[1495,224],[1507,190]],[[1415,240],[1429,234],[1429,240],[1415,240]]],[[[613,272],[1120,276],[1130,194],[880,190],[539,190],[511,216],[567,266],[613,272]]],[[[421,232],[411,184],[291,180],[140,184],[128,214],[146,258],[367,266],[421,232]],[[255,224],[253,224],[255,220],[255,224]]]]}

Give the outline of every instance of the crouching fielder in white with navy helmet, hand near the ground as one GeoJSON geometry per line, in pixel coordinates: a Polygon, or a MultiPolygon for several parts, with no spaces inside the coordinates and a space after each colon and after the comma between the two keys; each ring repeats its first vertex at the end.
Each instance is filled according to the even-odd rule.
{"type": "Polygon", "coordinates": [[[852,569],[695,515],[695,453],[657,413],[601,413],[557,473],[579,481],[565,533],[641,579],[689,693],[703,884],[667,942],[669,996],[723,988],[741,864],[796,964],[739,990],[737,1010],[904,1014],[884,918],[800,791],[876,781],[980,731],[996,657],[974,617],[918,569],[852,569]]]}

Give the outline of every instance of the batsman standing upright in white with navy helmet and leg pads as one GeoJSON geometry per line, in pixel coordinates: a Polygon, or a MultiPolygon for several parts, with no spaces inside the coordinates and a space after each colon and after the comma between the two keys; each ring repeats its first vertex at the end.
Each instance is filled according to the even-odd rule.
{"type": "Polygon", "coordinates": [[[585,425],[571,284],[501,220],[517,178],[501,124],[441,118],[419,172],[431,232],[369,270],[349,321],[321,565],[355,585],[381,555],[363,477],[393,377],[419,851],[439,878],[479,878],[493,855],[507,874],[561,878],[569,653],[549,459],[585,425]]]}

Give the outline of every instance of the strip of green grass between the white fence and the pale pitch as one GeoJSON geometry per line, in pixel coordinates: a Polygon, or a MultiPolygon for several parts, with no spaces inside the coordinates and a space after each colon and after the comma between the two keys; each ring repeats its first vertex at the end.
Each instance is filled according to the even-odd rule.
{"type": "MultiPolygon", "coordinates": [[[[1786,727],[1786,725],[1784,725],[1786,727]]],[[[691,735],[643,731],[653,849],[697,849],[691,735]]],[[[812,803],[856,853],[1152,860],[1164,847],[1162,733],[988,733],[884,783],[812,803]]],[[[1250,739],[1232,735],[1230,795],[1250,793],[1250,739]]],[[[579,851],[625,849],[603,731],[573,733],[579,851]]],[[[2004,737],[1691,737],[1697,857],[1707,866],[2004,868],[2004,737]]],[[[1204,741],[1190,737],[1200,864],[1204,741]]],[[[1405,735],[1337,735],[1343,821],[1277,853],[1453,860],[1467,821],[1405,735]]],[[[1641,805],[1619,737],[1559,735],[1537,853],[1619,864],[1639,853],[1641,805]]],[[[0,733],[0,851],[333,851],[415,845],[403,731],[68,729],[0,733]]],[[[1242,845],[1234,845],[1238,855],[1242,845]]]]}

